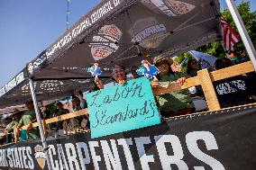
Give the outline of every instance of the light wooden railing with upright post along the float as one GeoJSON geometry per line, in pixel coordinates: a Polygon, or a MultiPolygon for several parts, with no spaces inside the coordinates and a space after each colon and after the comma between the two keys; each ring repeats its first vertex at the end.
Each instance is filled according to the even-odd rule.
{"type": "MultiPolygon", "coordinates": [[[[195,85],[202,85],[204,94],[206,96],[206,103],[208,104],[209,111],[217,111],[220,110],[220,104],[215,94],[215,88],[213,82],[222,80],[225,78],[229,78],[232,76],[239,76],[246,73],[253,72],[254,68],[252,66],[251,61],[235,65],[233,67],[226,67],[224,69],[220,69],[214,72],[208,72],[207,69],[203,69],[197,72],[197,76],[188,78],[186,83],[182,86],[178,85],[177,83],[170,83],[169,85],[164,85],[161,87],[153,88],[154,95],[161,95],[161,94],[168,94],[171,92],[175,92],[181,89],[186,89],[191,86],[195,85]]],[[[46,129],[46,125],[57,122],[57,121],[64,121],[69,120],[71,118],[75,118],[81,115],[88,116],[88,110],[83,109],[77,112],[70,112],[68,114],[64,114],[58,117],[50,118],[48,120],[43,121],[44,130],[46,129]]],[[[38,123],[32,123],[33,127],[38,127],[38,123]]],[[[0,136],[4,136],[4,133],[0,133],[0,136]]]]}

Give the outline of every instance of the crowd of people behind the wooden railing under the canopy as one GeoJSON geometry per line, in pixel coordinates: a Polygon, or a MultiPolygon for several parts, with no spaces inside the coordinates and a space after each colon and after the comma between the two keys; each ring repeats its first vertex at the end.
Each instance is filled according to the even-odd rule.
{"type": "MultiPolygon", "coordinates": [[[[184,72],[180,71],[180,66],[177,61],[171,58],[155,57],[152,65],[143,62],[145,67],[156,67],[157,75],[151,76],[151,88],[157,88],[162,85],[169,85],[171,82],[176,82],[178,85],[184,85],[187,78],[197,76],[197,72],[201,70],[196,59],[189,59],[187,61],[187,69],[184,72]]],[[[222,69],[224,67],[231,67],[233,63],[228,58],[218,58],[215,61],[215,69],[222,69]]],[[[156,71],[154,69],[154,72],[156,71]]],[[[132,77],[128,77],[128,73],[123,66],[114,66],[112,79],[114,84],[125,85],[131,79],[140,78],[139,66],[133,66],[130,69],[132,77]]],[[[211,71],[214,69],[209,68],[211,71]]],[[[147,71],[147,70],[146,70],[147,71]]],[[[149,70],[148,70],[149,71],[149,70]]],[[[235,76],[224,80],[214,82],[215,93],[222,108],[232,107],[234,105],[241,105],[244,103],[255,103],[255,90],[253,88],[254,75],[235,76]]],[[[105,85],[100,77],[96,76],[94,85],[91,91],[104,89],[105,85]]],[[[204,98],[204,92],[200,85],[196,86],[197,95],[204,98]]],[[[169,117],[180,116],[197,112],[193,103],[193,96],[195,94],[189,93],[187,89],[169,94],[162,94],[155,96],[155,101],[159,107],[160,116],[163,119],[169,117]]],[[[32,122],[36,121],[34,106],[32,101],[25,103],[27,110],[24,112],[14,112],[11,121],[5,128],[5,142],[24,141],[27,139],[39,138],[38,128],[32,127],[32,122]],[[12,134],[13,137],[12,138],[12,134]]],[[[87,101],[80,90],[74,90],[72,95],[72,111],[79,111],[87,108],[87,101]]],[[[57,102],[41,108],[42,119],[50,119],[67,114],[70,111],[64,109],[63,103],[57,102]]],[[[65,121],[57,121],[50,123],[47,126],[48,136],[56,136],[61,134],[77,133],[79,131],[90,130],[90,122],[88,116],[78,116],[65,121]]]]}

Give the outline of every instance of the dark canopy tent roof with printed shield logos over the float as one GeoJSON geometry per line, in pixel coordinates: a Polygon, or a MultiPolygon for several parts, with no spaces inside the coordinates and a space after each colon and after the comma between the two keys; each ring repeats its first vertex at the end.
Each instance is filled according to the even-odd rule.
{"type": "Polygon", "coordinates": [[[95,62],[109,77],[114,65],[129,70],[145,56],[196,49],[217,39],[218,16],[216,0],[103,0],[24,68],[23,81],[1,89],[0,107],[31,98],[26,77],[39,101],[52,100],[91,89],[87,68],[95,62]]]}

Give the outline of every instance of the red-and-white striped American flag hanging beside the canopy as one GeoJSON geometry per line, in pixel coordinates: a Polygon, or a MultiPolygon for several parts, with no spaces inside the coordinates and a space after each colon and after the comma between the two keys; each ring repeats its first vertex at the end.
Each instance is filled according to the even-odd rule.
{"type": "Polygon", "coordinates": [[[239,35],[231,28],[229,23],[221,17],[222,35],[224,41],[224,49],[233,51],[233,45],[241,40],[239,35]]]}

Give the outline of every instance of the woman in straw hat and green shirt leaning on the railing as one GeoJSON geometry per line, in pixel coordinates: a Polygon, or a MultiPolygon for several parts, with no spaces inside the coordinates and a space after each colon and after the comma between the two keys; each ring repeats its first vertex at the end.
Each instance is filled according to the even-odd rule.
{"type": "MultiPolygon", "coordinates": [[[[153,61],[154,65],[160,70],[157,75],[158,80],[151,81],[152,87],[168,85],[170,82],[176,82],[183,85],[186,81],[185,74],[181,72],[173,72],[170,68],[172,60],[170,58],[156,57],[153,61]]],[[[157,96],[160,107],[160,114],[163,117],[173,117],[179,115],[190,114],[195,111],[188,90],[180,90],[169,94],[157,96]]]]}

